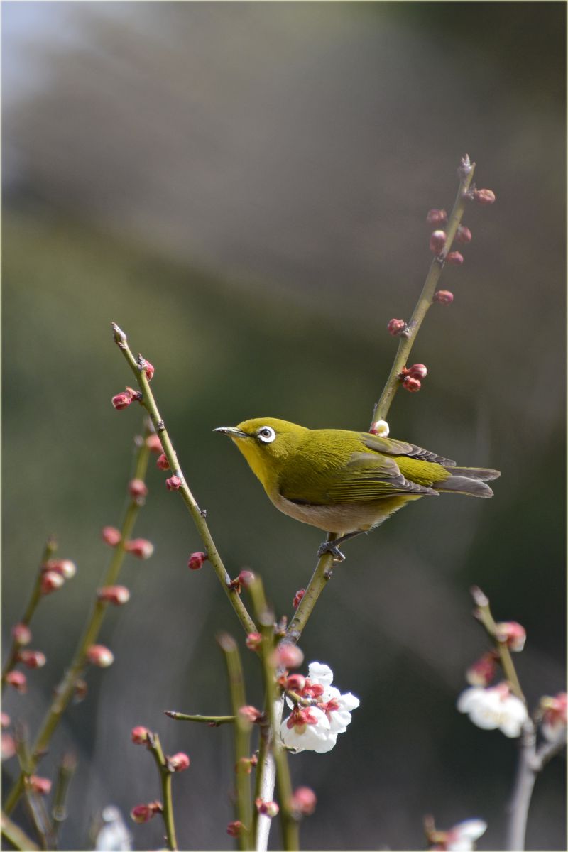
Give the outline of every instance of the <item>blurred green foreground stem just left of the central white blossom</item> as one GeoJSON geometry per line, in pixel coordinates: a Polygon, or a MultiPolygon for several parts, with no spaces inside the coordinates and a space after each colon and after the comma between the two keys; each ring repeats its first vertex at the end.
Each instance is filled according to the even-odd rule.
{"type": "MultiPolygon", "coordinates": [[[[325,557],[322,557],[323,559],[325,557]]],[[[320,560],[321,561],[321,560],[320,560]]],[[[262,676],[265,690],[265,706],[270,728],[270,746],[273,751],[274,763],[276,764],[276,785],[278,788],[278,804],[280,807],[280,825],[282,826],[282,838],[284,849],[295,850],[300,848],[300,832],[297,820],[295,820],[290,808],[292,799],[292,782],[290,780],[290,768],[288,757],[280,740],[280,712],[277,704],[281,701],[276,689],[276,670],[274,667],[274,615],[267,607],[264,596],[264,588],[261,579],[255,579],[249,585],[255,607],[255,616],[261,627],[261,661],[262,676]]]]}

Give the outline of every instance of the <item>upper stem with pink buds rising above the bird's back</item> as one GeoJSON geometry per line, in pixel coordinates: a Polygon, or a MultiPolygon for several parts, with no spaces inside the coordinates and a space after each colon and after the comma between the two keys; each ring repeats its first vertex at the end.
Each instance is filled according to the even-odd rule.
{"type": "Polygon", "coordinates": [[[404,335],[399,338],[399,348],[394,357],[393,366],[388,375],[387,383],[382,390],[381,398],[376,403],[373,410],[371,426],[376,422],[376,420],[387,419],[388,411],[393,403],[394,394],[396,394],[399,389],[400,372],[408,361],[410,349],[412,348],[416,335],[422,325],[422,320],[427,314],[427,309],[432,304],[433,295],[436,291],[440,275],[442,274],[442,269],[444,268],[444,262],[443,260],[440,260],[440,257],[445,257],[447,255],[456,236],[457,228],[460,226],[460,222],[462,222],[463,211],[465,210],[465,206],[468,201],[466,193],[468,193],[469,186],[473,180],[473,172],[475,170],[475,164],[469,164],[469,159],[467,157],[464,159],[467,160],[467,164],[470,166],[470,169],[468,171],[468,175],[460,175],[460,185],[457,190],[456,201],[454,202],[453,209],[451,210],[450,217],[448,219],[448,224],[445,228],[446,240],[444,249],[440,252],[440,256],[433,258],[429,272],[427,273],[426,281],[422,287],[422,293],[420,294],[418,302],[416,302],[416,308],[414,308],[414,312],[410,317],[404,335]]]}

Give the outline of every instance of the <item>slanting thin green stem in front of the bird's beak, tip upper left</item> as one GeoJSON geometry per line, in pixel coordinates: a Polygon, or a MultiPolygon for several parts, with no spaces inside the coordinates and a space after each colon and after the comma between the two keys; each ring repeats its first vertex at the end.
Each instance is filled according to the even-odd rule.
{"type": "MultiPolygon", "coordinates": [[[[164,448],[164,453],[169,462],[169,467],[172,471],[172,474],[178,476],[181,479],[181,498],[183,502],[186,504],[187,509],[189,510],[190,515],[192,515],[192,520],[195,526],[198,529],[198,533],[201,537],[201,540],[204,543],[205,551],[207,553],[207,557],[221,583],[221,586],[225,590],[225,594],[227,595],[229,602],[231,603],[232,608],[237,614],[237,618],[240,621],[241,625],[243,625],[246,633],[254,633],[256,630],[254,621],[250,618],[249,613],[244,607],[244,603],[241,601],[240,597],[232,590],[230,583],[231,579],[227,573],[225,566],[221,560],[221,556],[215,547],[215,542],[209,532],[209,527],[205,521],[205,513],[199,509],[197,500],[193,497],[192,492],[189,489],[189,486],[186,483],[186,478],[181,471],[180,464],[177,460],[177,455],[175,454],[174,446],[169,439],[168,431],[164,426],[164,420],[160,417],[160,413],[158,412],[158,406],[156,405],[156,400],[154,400],[152,391],[148,384],[148,380],[146,378],[146,372],[144,371],[143,366],[139,365],[138,361],[135,360],[134,355],[129,349],[129,345],[127,343],[126,335],[116,323],[112,323],[112,330],[114,332],[114,340],[118,345],[118,348],[124,355],[127,363],[129,364],[130,369],[133,371],[136,382],[138,383],[139,388],[141,389],[142,394],[142,405],[146,408],[146,411],[150,415],[152,419],[152,423],[154,429],[156,429],[156,433],[159,439],[162,442],[162,446],[164,448]]],[[[141,363],[143,359],[139,356],[141,363]]]]}

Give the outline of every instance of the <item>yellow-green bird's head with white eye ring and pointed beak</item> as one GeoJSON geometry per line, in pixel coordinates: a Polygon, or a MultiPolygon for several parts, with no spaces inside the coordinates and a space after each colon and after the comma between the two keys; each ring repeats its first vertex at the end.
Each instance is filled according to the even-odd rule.
{"type": "Polygon", "coordinates": [[[262,485],[270,491],[308,429],[276,417],[255,417],[238,426],[220,426],[214,431],[232,438],[262,485]]]}

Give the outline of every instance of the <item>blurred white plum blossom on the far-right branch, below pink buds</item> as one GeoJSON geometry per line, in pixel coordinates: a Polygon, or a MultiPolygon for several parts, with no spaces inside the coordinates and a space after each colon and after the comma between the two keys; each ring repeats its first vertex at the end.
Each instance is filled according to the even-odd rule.
{"type": "Polygon", "coordinates": [[[468,713],[478,728],[499,728],[507,737],[520,736],[528,718],[525,704],[511,694],[507,683],[497,683],[490,688],[470,687],[457,699],[457,709],[468,713]]]}

